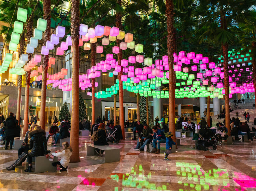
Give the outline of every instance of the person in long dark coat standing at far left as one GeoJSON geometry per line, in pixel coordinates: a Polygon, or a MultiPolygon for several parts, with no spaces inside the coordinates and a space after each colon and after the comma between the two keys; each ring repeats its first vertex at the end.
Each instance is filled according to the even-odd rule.
{"type": "Polygon", "coordinates": [[[19,127],[19,132],[18,132],[18,120],[15,119],[14,114],[12,112],[9,113],[9,117],[4,121],[4,125],[6,126],[6,131],[5,131],[5,136],[6,136],[6,141],[5,141],[5,150],[8,149],[8,145],[10,143],[10,149],[12,149],[13,145],[13,139],[15,136],[19,137],[20,135],[17,135],[20,133],[20,127],[19,127]]]}

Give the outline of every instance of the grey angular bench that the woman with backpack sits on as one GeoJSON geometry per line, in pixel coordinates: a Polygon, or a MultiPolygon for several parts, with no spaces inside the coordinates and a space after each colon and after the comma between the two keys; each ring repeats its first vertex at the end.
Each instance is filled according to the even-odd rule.
{"type": "Polygon", "coordinates": [[[101,149],[105,151],[104,163],[115,162],[120,160],[120,149],[113,146],[108,146],[108,145],[88,144],[86,149],[86,155],[87,156],[96,155],[96,151],[95,151],[96,149],[101,149]]]}

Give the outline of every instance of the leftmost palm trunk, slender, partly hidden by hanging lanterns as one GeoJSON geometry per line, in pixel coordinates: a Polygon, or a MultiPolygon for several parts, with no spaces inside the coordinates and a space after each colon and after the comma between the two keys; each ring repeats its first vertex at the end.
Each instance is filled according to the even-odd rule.
{"type": "MultiPolygon", "coordinates": [[[[23,48],[24,48],[24,33],[22,33],[22,36],[20,37],[20,42],[19,42],[19,56],[22,55],[23,53],[23,48]]],[[[21,100],[21,88],[22,88],[22,75],[18,76],[18,97],[17,97],[17,110],[16,110],[16,119],[19,121],[20,117],[20,100],[21,100]]],[[[20,121],[18,122],[18,124],[20,121]]]]}

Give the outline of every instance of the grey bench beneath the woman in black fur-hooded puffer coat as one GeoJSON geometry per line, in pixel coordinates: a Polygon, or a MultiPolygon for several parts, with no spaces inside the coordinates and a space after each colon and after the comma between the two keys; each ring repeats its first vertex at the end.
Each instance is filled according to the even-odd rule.
{"type": "MultiPolygon", "coordinates": [[[[33,169],[34,169],[34,173],[41,173],[41,172],[47,172],[47,171],[56,171],[57,167],[54,167],[52,165],[53,162],[57,162],[58,161],[58,157],[53,158],[53,161],[49,161],[50,156],[48,158],[46,158],[46,156],[40,156],[40,157],[32,157],[32,162],[35,162],[33,169]]],[[[27,162],[28,162],[28,158],[27,158],[27,162]]],[[[32,170],[33,170],[32,169],[32,170]]]]}

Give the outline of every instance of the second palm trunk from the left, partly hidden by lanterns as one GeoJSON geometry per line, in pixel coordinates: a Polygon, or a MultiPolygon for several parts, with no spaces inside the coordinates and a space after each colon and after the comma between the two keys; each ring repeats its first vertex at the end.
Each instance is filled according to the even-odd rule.
{"type": "MultiPolygon", "coordinates": [[[[33,18],[31,16],[31,18],[33,18]]],[[[30,19],[27,24],[27,40],[32,36],[33,20],[30,19]]],[[[31,60],[32,54],[28,53],[28,61],[31,60]]],[[[25,104],[24,104],[24,126],[23,126],[23,137],[28,131],[28,120],[29,120],[29,84],[30,84],[30,70],[26,72],[26,86],[25,86],[25,104]]]]}

